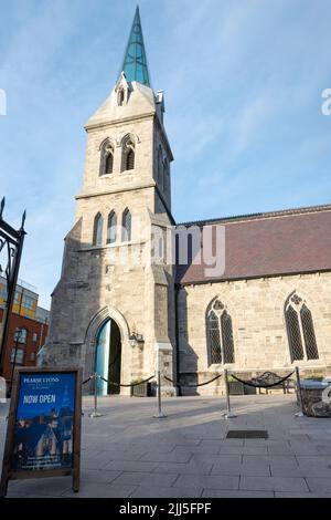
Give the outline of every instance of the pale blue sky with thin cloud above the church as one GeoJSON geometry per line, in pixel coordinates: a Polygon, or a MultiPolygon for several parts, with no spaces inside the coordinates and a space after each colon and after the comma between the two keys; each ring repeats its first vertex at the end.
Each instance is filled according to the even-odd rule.
{"type": "MultiPolygon", "coordinates": [[[[177,221],[331,202],[329,0],[141,0],[152,86],[166,92],[177,221]]],[[[131,0],[1,2],[0,196],[28,210],[20,278],[60,275],[82,181],[84,123],[113,89],[131,0]]]]}

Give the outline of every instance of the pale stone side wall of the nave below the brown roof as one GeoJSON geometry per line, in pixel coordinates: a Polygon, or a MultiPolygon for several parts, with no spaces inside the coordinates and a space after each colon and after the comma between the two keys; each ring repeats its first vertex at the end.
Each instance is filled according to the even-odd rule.
{"type": "MultiPolygon", "coordinates": [[[[222,371],[210,365],[206,310],[215,298],[232,316],[235,363],[229,371],[290,372],[296,365],[305,376],[331,374],[331,273],[312,273],[185,285],[179,292],[180,372],[184,381],[202,382],[222,371]],[[291,363],[285,304],[291,293],[305,298],[314,324],[319,360],[291,363]]],[[[222,393],[220,383],[201,387],[201,394],[222,393]]]]}

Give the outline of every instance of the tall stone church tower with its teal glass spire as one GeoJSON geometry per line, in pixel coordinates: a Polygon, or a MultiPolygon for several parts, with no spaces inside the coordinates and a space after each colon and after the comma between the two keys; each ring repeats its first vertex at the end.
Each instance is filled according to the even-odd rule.
{"type": "MultiPolygon", "coordinates": [[[[150,83],[137,8],[116,84],[85,125],[83,186],[65,238],[41,361],[120,384],[161,370],[173,378],[174,267],[167,229],[170,164],[163,92],[150,83]],[[156,261],[157,258],[157,261],[156,261]]],[[[173,387],[163,379],[163,393],[173,387]]]]}

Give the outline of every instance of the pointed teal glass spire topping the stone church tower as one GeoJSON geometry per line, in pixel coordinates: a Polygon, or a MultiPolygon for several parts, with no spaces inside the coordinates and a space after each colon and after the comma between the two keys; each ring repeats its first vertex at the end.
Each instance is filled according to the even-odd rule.
{"type": "Polygon", "coordinates": [[[121,71],[124,71],[127,81],[137,81],[143,85],[150,86],[138,6],[120,72],[121,71]]]}

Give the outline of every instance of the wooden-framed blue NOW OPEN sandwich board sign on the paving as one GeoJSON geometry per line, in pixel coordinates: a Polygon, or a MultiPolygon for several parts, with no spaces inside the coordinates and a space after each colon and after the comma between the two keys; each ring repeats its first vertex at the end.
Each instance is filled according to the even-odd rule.
{"type": "Polygon", "coordinates": [[[0,497],[10,479],[72,476],[79,490],[82,368],[15,368],[0,497]]]}

